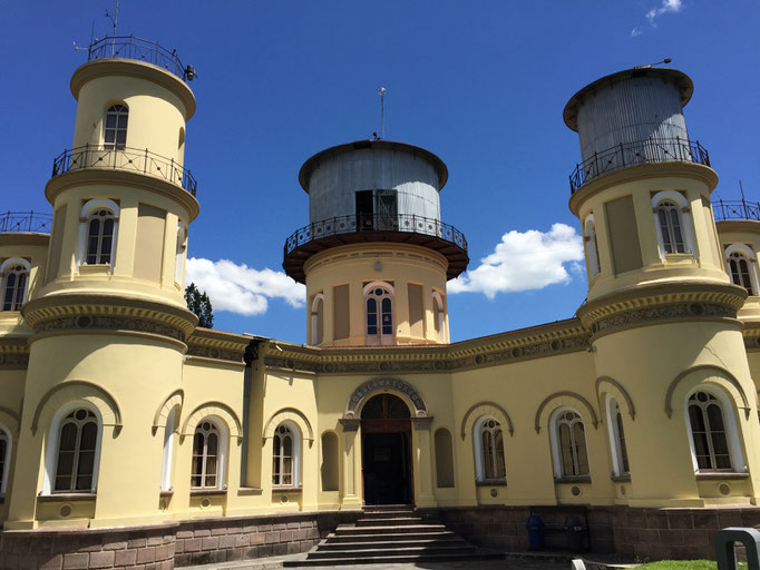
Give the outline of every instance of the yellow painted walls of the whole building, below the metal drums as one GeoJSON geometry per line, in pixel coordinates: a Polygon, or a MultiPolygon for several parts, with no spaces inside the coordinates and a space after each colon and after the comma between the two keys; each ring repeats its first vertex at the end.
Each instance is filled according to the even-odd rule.
{"type": "Polygon", "coordinates": [[[360,509],[368,485],[382,491],[366,452],[387,451],[362,419],[380,394],[408,410],[399,492],[418,508],[757,505],[760,291],[734,284],[727,250],[743,246],[757,287],[760,223],[715,226],[709,166],[641,164],[578,188],[569,206],[590,292],[575,318],[449,343],[452,254],[366,238],[299,262],[301,346],[199,328],[185,308],[198,215],[183,170],[195,108],[185,82],[107,59],[71,86],[85,150],[46,187],[51,234],[0,234],[0,264],[25,261],[29,279],[23,306],[0,312],[4,530],[360,509]],[[109,147],[116,105],[128,108],[126,142],[109,147]],[[129,148],[154,159],[137,168],[129,148]],[[660,195],[678,203],[682,253],[657,237],[660,195]],[[113,229],[92,225],[101,212],[113,229]],[[106,254],[91,253],[92,227],[99,244],[113,232],[106,254]],[[374,289],[392,298],[387,338],[370,338],[374,289]],[[712,431],[725,449],[708,459],[690,424],[695,394],[723,419],[712,431]]]}

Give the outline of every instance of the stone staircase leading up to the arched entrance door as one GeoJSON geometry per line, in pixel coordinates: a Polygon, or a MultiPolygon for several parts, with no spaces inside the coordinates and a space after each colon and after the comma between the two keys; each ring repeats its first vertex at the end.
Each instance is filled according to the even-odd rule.
{"type": "Polygon", "coordinates": [[[303,560],[286,567],[444,562],[500,559],[477,549],[437,520],[417,517],[413,505],[366,507],[355,524],[340,524],[303,560]]]}

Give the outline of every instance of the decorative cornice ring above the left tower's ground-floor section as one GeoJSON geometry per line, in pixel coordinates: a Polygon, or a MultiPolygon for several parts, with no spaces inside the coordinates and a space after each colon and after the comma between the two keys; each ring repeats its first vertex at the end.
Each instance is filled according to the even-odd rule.
{"type": "Polygon", "coordinates": [[[183,307],[105,295],[49,295],[27,303],[21,315],[36,335],[124,331],[184,342],[197,324],[197,317],[183,307]]]}

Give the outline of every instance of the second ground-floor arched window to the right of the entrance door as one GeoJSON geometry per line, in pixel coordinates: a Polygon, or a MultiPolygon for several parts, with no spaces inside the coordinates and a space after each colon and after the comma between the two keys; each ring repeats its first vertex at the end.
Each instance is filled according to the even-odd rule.
{"type": "Polygon", "coordinates": [[[581,415],[571,409],[559,409],[552,416],[552,451],[555,475],[587,476],[586,433],[581,415]]]}

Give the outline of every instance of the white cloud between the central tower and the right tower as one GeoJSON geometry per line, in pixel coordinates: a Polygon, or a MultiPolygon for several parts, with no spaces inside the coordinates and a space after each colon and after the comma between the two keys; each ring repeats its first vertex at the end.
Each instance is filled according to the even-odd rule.
{"type": "Polygon", "coordinates": [[[494,253],[480,265],[449,283],[449,293],[483,293],[494,298],[497,293],[542,289],[555,283],[567,283],[583,262],[583,240],[575,228],[554,224],[548,232],[528,229],[501,236],[494,253]]]}

